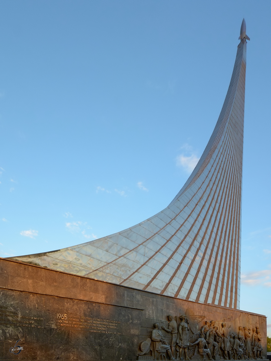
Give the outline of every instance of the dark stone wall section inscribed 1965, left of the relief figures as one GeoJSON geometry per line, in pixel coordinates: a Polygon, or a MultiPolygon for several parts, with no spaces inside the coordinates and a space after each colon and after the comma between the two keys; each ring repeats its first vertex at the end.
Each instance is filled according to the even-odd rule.
{"type": "Polygon", "coordinates": [[[0,360],[136,358],[142,310],[13,290],[0,300],[0,360]]]}

